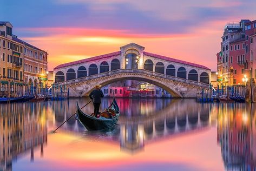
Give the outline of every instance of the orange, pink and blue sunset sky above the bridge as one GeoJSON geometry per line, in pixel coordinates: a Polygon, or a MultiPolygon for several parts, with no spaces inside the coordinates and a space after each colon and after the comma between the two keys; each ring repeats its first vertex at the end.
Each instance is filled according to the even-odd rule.
{"type": "Polygon", "coordinates": [[[16,0],[1,2],[0,21],[48,51],[48,70],[131,42],[216,70],[225,24],[256,19],[255,6],[255,0],[16,0]]]}

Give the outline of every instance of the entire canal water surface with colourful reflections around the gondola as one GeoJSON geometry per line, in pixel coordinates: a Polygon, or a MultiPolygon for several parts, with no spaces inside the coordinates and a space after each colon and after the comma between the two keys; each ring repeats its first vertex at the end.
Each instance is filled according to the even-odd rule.
{"type": "MultiPolygon", "coordinates": [[[[117,98],[113,130],[74,118],[88,98],[0,105],[0,170],[225,170],[256,165],[255,106],[117,98]]],[[[111,98],[103,98],[106,108],[111,98]]],[[[93,104],[83,109],[92,113],[93,104]]]]}

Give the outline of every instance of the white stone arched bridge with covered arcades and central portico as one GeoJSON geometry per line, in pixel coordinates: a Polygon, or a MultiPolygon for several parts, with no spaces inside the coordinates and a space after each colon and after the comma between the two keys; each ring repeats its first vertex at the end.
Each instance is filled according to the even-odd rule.
{"type": "Polygon", "coordinates": [[[144,49],[130,43],[118,52],[58,65],[55,82],[68,86],[70,96],[88,95],[96,84],[105,86],[120,80],[149,82],[176,97],[195,97],[198,89],[209,88],[211,70],[207,67],[144,49]]]}

